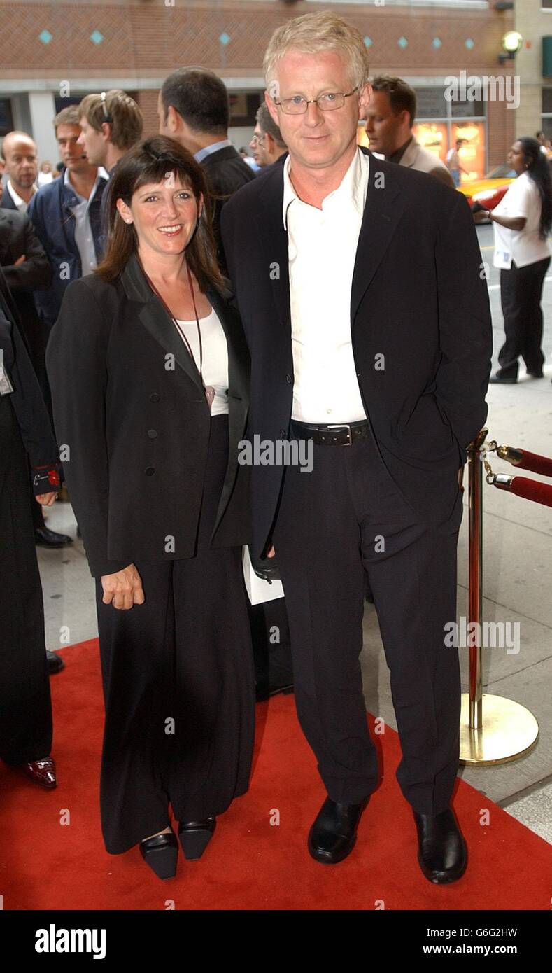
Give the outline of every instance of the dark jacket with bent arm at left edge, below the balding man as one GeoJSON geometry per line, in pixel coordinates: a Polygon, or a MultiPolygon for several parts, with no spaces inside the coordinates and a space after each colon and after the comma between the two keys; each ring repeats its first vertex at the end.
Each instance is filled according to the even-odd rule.
{"type": "Polygon", "coordinates": [[[36,366],[44,354],[45,342],[33,291],[46,290],[50,286],[52,267],[29,217],[17,209],[0,209],[0,266],[36,366]],[[25,260],[16,267],[16,261],[22,255],[25,260]]]}

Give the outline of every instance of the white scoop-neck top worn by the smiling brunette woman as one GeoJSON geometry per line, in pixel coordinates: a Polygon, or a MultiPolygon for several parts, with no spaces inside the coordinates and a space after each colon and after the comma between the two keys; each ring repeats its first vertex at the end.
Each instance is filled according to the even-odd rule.
{"type": "MultiPolygon", "coordinates": [[[[199,369],[199,337],[195,318],[192,321],[183,321],[177,317],[176,320],[190,342],[195,364],[199,369]]],[[[214,308],[207,317],[199,318],[199,327],[203,347],[203,384],[211,385],[215,389],[211,415],[224,415],[228,413],[228,347],[223,325],[214,308]]],[[[182,338],[180,329],[179,335],[182,338]]],[[[182,342],[190,354],[184,338],[182,342]]]]}

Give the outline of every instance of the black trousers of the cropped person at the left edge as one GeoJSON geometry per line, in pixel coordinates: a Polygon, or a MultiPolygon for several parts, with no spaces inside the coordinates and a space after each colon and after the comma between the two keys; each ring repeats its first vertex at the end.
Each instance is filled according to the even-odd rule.
{"type": "Polygon", "coordinates": [[[0,456],[0,758],[15,766],[50,755],[52,703],[28,460],[9,395],[0,456]]]}

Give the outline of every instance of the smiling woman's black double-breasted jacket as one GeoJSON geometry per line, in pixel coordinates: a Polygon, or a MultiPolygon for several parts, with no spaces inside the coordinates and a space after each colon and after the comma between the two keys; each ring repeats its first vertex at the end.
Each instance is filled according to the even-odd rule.
{"type": "MultiPolygon", "coordinates": [[[[228,346],[229,455],[212,539],[213,547],[226,547],[249,539],[248,470],[237,459],[249,354],[229,294],[206,293],[228,346]]],[[[92,273],[69,284],[47,367],[91,574],[112,574],[132,561],[192,557],[209,408],[190,354],[135,256],[113,283],[92,273]]]]}

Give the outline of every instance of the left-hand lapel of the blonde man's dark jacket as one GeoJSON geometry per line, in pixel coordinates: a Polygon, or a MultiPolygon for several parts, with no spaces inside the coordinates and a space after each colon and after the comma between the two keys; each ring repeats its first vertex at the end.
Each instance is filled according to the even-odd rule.
{"type": "Polygon", "coordinates": [[[259,239],[263,247],[261,272],[266,273],[270,280],[272,297],[280,322],[291,340],[288,234],[282,217],[283,204],[284,175],[282,166],[278,165],[272,173],[270,182],[267,181],[256,218],[259,224],[259,239]]]}

